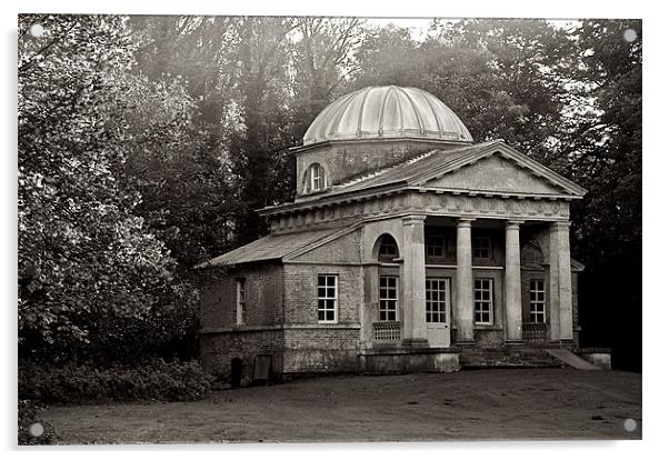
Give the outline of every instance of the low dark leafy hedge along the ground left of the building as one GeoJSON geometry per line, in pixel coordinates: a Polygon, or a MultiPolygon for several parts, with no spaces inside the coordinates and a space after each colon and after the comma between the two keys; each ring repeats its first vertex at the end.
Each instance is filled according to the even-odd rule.
{"type": "Polygon", "coordinates": [[[143,366],[98,369],[88,364],[19,367],[19,398],[43,402],[189,401],[211,391],[214,377],[197,361],[154,360],[143,366]]]}

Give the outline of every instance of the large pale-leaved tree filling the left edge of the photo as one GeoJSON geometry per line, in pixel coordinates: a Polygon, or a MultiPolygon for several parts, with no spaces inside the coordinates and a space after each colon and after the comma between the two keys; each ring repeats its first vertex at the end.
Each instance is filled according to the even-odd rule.
{"type": "MultiPolygon", "coordinates": [[[[141,322],[173,300],[173,260],[134,213],[141,196],[122,180],[142,139],[167,132],[129,127],[127,96],[137,83],[128,78],[131,64],[120,17],[19,17],[23,357],[46,346],[51,358],[87,347],[90,354],[123,333],[112,323],[141,322]],[[28,32],[33,23],[43,26],[43,37],[28,32]]],[[[171,129],[174,138],[179,123],[171,129]]],[[[117,339],[122,346],[124,338],[117,339]]]]}

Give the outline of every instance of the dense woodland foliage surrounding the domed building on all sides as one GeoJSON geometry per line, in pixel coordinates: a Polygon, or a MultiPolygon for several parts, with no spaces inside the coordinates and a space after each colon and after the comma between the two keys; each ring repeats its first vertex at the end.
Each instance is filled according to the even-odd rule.
{"type": "MultiPolygon", "coordinates": [[[[576,24],[20,16],[21,357],[194,356],[191,268],[267,232],[253,210],[292,198],[289,149],[369,84],[422,88],[589,189],[575,258],[592,286],[621,263],[640,283],[641,23],[576,24]]],[[[640,287],[611,302],[640,308],[640,287]]]]}

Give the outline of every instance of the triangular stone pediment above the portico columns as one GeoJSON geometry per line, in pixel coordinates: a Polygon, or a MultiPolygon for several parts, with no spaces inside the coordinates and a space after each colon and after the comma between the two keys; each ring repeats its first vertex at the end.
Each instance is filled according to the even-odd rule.
{"type": "Polygon", "coordinates": [[[442,171],[421,183],[426,188],[479,191],[490,193],[521,193],[563,196],[570,191],[542,171],[522,164],[501,152],[489,153],[476,161],[442,171]]]}

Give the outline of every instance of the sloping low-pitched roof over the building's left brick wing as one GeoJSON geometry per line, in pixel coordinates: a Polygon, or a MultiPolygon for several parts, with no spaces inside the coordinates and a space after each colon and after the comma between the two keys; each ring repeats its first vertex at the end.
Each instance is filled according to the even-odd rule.
{"type": "Polygon", "coordinates": [[[268,234],[233,251],[200,263],[196,268],[233,266],[237,263],[282,259],[291,252],[298,251],[340,230],[308,230],[298,233],[268,234]]]}

